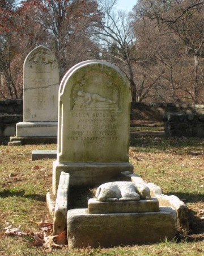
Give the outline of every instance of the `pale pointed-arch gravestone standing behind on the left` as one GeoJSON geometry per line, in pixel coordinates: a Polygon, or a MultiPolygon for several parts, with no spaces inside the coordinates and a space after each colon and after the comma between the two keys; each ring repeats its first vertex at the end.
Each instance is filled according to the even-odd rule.
{"type": "Polygon", "coordinates": [[[59,69],[46,47],[33,49],[23,67],[23,122],[16,137],[57,137],[59,69]]]}

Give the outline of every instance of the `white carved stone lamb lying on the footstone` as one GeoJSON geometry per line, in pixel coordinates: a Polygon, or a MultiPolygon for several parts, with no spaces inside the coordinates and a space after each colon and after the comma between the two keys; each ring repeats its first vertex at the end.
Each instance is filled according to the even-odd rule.
{"type": "Polygon", "coordinates": [[[96,191],[98,201],[151,199],[150,189],[131,181],[115,181],[100,185],[96,191]]]}

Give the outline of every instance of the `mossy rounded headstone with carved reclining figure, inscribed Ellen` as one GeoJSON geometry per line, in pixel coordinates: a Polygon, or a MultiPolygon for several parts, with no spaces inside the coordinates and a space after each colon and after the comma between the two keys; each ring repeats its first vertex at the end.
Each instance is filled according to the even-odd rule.
{"type": "Polygon", "coordinates": [[[117,180],[129,163],[131,93],[116,66],[99,60],[71,68],[59,87],[57,160],[53,193],[61,171],[70,185],[95,185],[117,180]]]}

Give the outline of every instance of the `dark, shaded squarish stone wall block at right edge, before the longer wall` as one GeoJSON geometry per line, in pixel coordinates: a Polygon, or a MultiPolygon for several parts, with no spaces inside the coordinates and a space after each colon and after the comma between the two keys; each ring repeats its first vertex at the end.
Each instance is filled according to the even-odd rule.
{"type": "Polygon", "coordinates": [[[165,113],[164,130],[168,137],[204,137],[204,114],[165,113]]]}

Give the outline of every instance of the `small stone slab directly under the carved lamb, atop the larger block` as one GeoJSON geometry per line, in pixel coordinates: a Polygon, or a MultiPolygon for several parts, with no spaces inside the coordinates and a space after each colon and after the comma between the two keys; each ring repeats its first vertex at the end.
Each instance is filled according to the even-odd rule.
{"type": "Polygon", "coordinates": [[[112,201],[100,202],[96,199],[88,200],[88,213],[131,213],[131,212],[159,212],[159,201],[112,201]]]}

